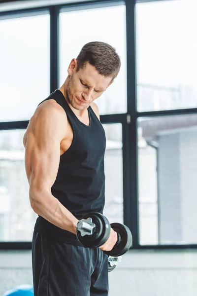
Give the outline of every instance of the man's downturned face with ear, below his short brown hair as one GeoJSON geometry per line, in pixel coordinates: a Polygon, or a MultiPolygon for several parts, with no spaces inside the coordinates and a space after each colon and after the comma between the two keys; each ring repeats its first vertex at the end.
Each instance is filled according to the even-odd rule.
{"type": "Polygon", "coordinates": [[[76,63],[73,59],[68,67],[66,96],[74,109],[83,110],[101,96],[111,84],[111,78],[100,75],[89,63],[76,72],[76,63]]]}

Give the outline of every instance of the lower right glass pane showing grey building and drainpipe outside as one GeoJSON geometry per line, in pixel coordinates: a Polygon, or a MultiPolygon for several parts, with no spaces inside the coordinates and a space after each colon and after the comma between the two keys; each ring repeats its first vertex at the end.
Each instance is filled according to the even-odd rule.
{"type": "Polygon", "coordinates": [[[197,114],[138,119],[140,244],[197,244],[197,114]]]}

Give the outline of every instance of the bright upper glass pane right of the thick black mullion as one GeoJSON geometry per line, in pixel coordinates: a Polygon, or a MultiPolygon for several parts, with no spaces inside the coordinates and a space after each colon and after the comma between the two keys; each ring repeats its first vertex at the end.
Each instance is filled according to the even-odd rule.
{"type": "Polygon", "coordinates": [[[138,111],[197,107],[196,11],[196,0],[136,4],[138,111]]]}

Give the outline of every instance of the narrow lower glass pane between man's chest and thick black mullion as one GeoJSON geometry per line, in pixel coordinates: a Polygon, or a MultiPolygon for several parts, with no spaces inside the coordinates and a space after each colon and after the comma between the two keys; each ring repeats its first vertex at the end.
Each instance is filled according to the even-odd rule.
{"type": "Polygon", "coordinates": [[[105,207],[110,223],[123,223],[123,152],[122,124],[103,124],[106,134],[105,207]]]}

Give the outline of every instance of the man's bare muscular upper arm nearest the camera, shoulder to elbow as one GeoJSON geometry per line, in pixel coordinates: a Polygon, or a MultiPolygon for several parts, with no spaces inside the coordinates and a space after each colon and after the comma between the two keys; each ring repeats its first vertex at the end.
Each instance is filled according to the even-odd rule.
{"type": "Polygon", "coordinates": [[[60,163],[61,125],[58,118],[47,117],[35,116],[26,134],[25,166],[34,192],[51,190],[60,163]]]}

